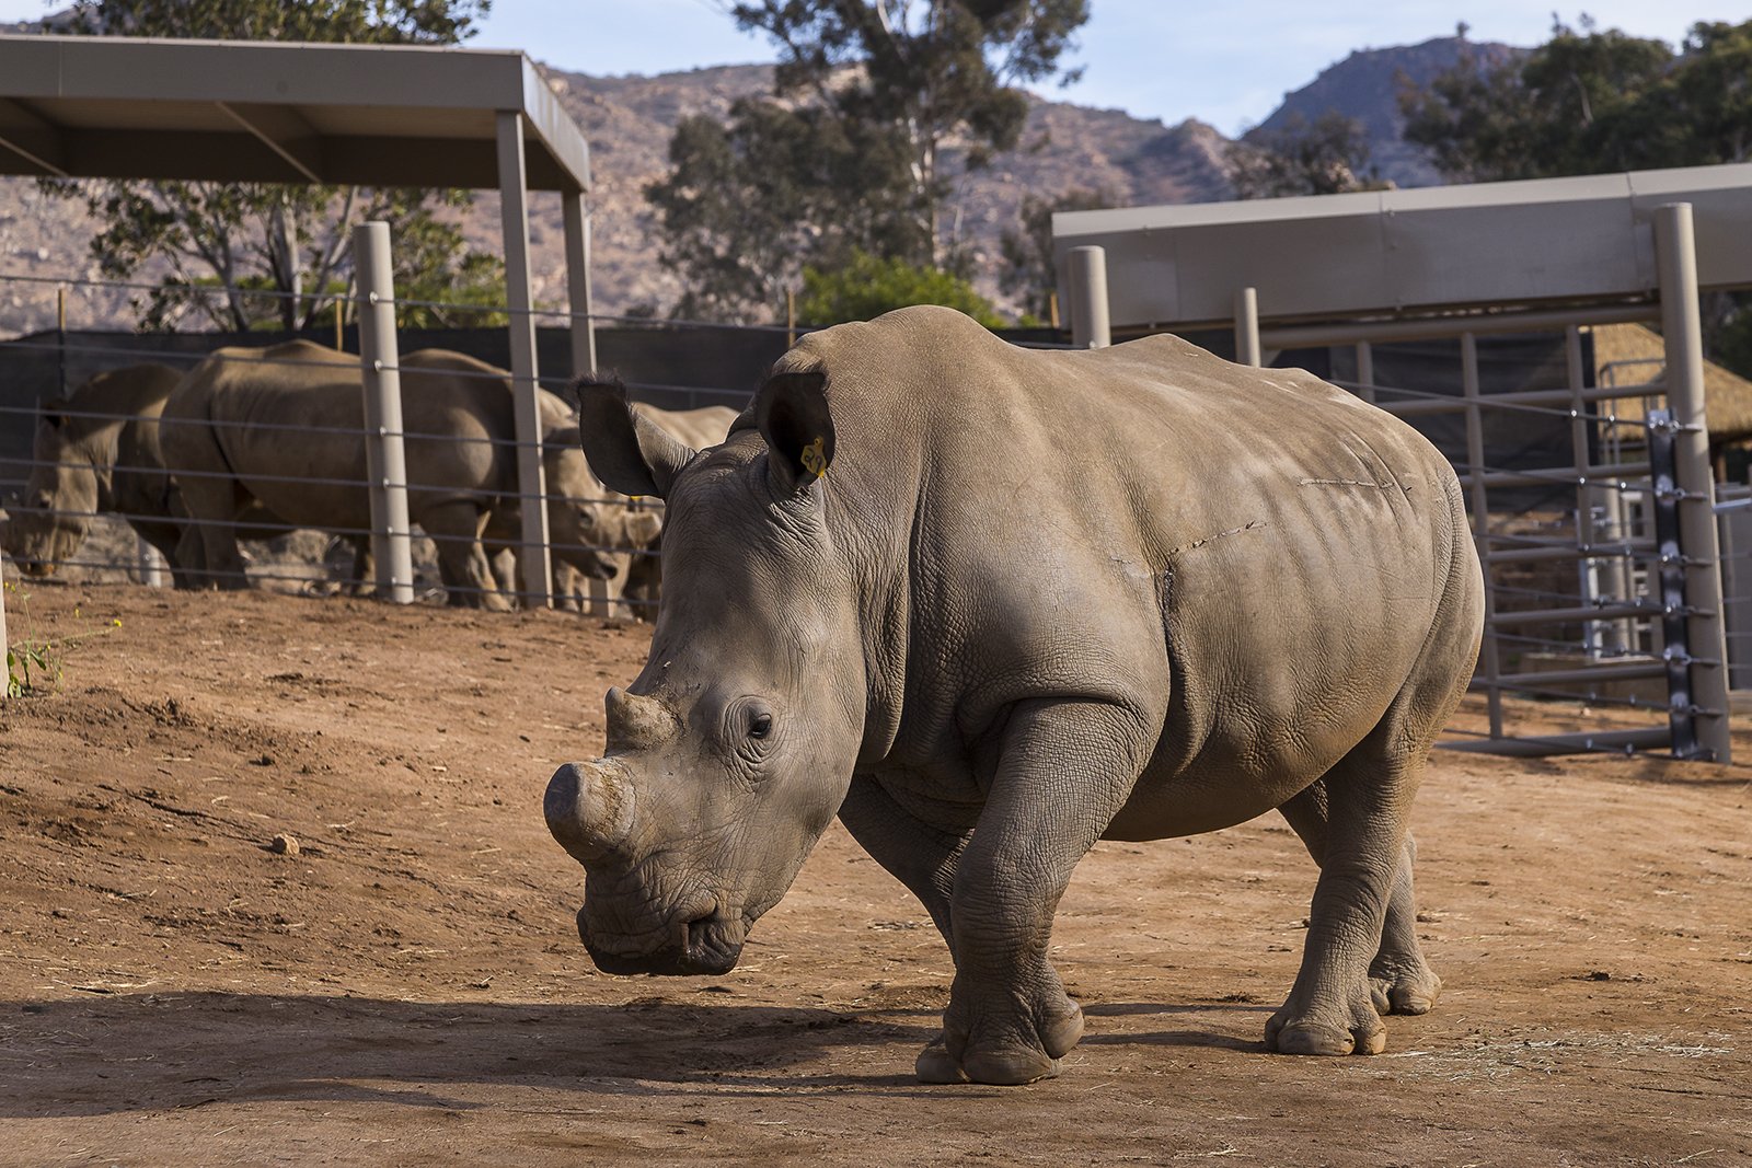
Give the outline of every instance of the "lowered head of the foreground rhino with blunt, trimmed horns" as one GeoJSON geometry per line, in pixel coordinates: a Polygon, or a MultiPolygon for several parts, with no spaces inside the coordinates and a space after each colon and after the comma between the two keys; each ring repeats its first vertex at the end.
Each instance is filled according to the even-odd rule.
{"type": "Polygon", "coordinates": [[[543,804],[585,869],[578,933],[610,974],[722,974],[839,811],[864,732],[857,590],[822,475],[820,375],[776,375],[694,452],[583,385],[590,469],[666,501],[650,658],[610,690],[608,751],[543,804]]]}

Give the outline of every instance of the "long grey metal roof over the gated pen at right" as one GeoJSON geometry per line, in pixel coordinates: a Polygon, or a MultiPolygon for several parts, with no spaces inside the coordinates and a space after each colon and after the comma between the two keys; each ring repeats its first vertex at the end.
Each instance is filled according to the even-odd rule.
{"type": "Polygon", "coordinates": [[[1752,163],[1582,179],[1188,203],[1053,215],[1060,299],[1072,247],[1107,252],[1113,326],[1428,313],[1647,298],[1652,214],[1691,203],[1698,284],[1752,285],[1752,163]]]}

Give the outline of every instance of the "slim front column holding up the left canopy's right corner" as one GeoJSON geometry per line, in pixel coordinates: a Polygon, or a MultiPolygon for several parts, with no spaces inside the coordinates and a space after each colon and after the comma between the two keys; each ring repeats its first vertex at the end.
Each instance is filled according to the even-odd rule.
{"type": "Polygon", "coordinates": [[[547,480],[541,473],[541,396],[536,382],[534,294],[529,287],[529,189],[524,116],[499,110],[499,207],[505,231],[505,303],[512,319],[512,398],[517,419],[517,496],[522,541],[517,569],[526,604],[554,604],[548,571],[547,480]]]}

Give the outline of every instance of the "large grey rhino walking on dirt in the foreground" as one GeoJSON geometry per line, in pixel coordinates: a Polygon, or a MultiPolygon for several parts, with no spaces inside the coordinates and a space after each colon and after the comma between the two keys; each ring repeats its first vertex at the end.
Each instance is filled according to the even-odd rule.
{"type": "Polygon", "coordinates": [[[1484,601],[1410,427],[1174,336],[1028,352],[941,308],[808,336],[715,450],[613,387],[582,417],[669,508],[650,660],[545,800],[601,968],[731,968],[837,813],[955,960],[920,1077],[1030,1082],[1083,1033],[1048,946],[1090,846],[1277,809],[1321,874],[1267,1044],[1375,1052],[1430,1009],[1405,820],[1484,601]]]}

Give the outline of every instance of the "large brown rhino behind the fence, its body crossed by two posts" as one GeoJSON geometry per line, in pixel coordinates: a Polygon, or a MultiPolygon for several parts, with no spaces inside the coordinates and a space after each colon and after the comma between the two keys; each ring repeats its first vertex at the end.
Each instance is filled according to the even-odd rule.
{"type": "MultiPolygon", "coordinates": [[[[517,457],[512,389],[503,369],[429,348],[401,357],[408,518],[438,550],[450,602],[505,609],[487,539],[515,539],[517,457]],[[424,438],[422,438],[424,436],[424,438]]],[[[541,391],[543,468],[554,555],[580,573],[613,573],[594,548],[606,543],[603,503],[568,406],[541,391]]],[[[177,469],[193,518],[179,560],[201,564],[214,587],[245,587],[231,529],[254,504],[287,524],[370,529],[364,436],[298,433],[364,424],[359,359],[310,341],[221,348],[170,394],[161,424],[165,461],[177,469]],[[193,471],[193,473],[184,473],[193,471]],[[331,482],[312,482],[331,480],[331,482]]]]}

